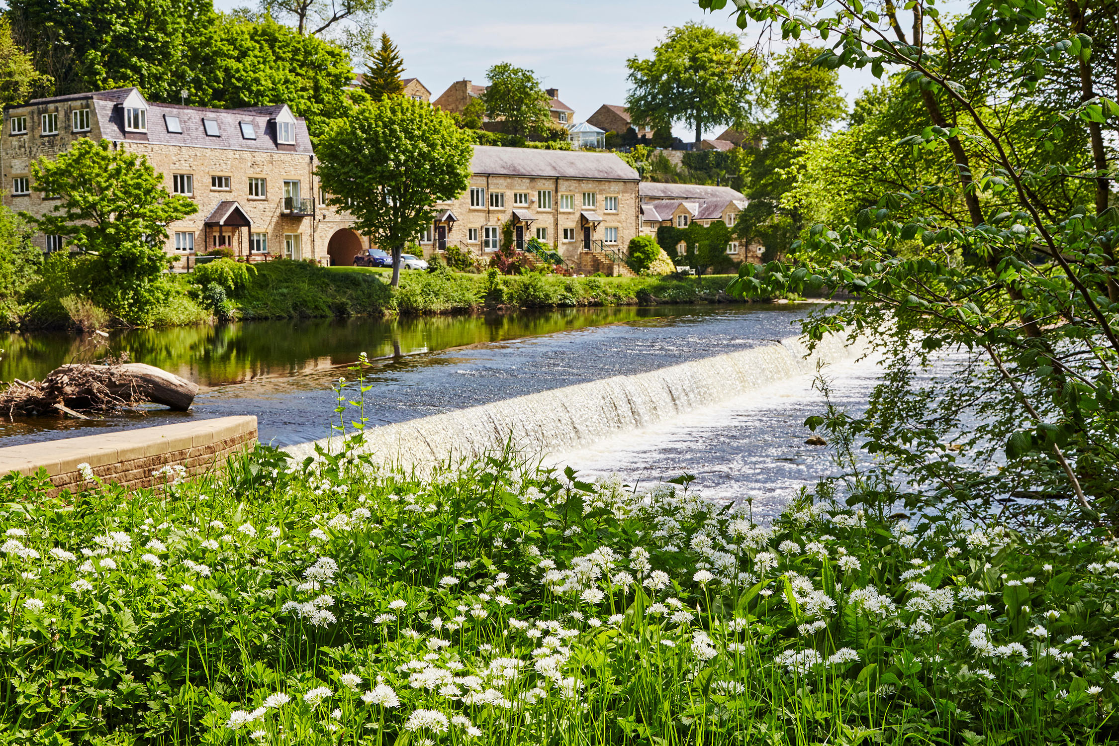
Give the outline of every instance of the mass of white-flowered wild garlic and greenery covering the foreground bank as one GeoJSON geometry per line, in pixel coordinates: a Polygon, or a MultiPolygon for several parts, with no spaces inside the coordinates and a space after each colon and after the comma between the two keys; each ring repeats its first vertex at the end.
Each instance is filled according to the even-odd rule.
{"type": "Polygon", "coordinates": [[[493,456],[0,482],[0,743],[1083,744],[1116,544],[493,456]]]}

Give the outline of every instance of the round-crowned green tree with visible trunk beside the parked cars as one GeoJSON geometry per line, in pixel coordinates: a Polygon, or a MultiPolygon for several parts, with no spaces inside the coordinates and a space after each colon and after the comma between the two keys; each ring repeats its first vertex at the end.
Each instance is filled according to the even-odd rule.
{"type": "Polygon", "coordinates": [[[388,96],[330,123],[316,145],[327,204],[346,209],[354,229],[393,252],[393,285],[401,252],[431,225],[434,206],[457,198],[470,179],[470,135],[446,113],[388,96]]]}

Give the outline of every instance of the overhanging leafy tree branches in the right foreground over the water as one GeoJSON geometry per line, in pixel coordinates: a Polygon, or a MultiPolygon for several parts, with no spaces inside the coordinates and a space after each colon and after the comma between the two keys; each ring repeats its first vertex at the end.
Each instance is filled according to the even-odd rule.
{"type": "Polygon", "coordinates": [[[1113,532],[1119,105],[1097,78],[1115,70],[1115,3],[976,2],[951,17],[933,0],[735,4],[741,27],[830,45],[815,64],[910,86],[928,125],[897,148],[955,164],[812,226],[790,257],[743,265],[732,284],[849,294],[806,333],[863,334],[884,352],[865,416],[809,424],[854,432],[883,456],[880,487],[910,507],[1113,532]]]}

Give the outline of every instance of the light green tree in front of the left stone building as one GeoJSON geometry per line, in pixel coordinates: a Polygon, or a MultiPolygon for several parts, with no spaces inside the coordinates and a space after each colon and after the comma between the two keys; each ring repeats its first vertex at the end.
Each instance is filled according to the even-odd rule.
{"type": "Polygon", "coordinates": [[[64,236],[83,261],[79,291],[130,323],[144,323],[166,295],[167,226],[198,210],[170,195],[144,155],[82,138],[57,158],[31,163],[35,191],[58,204],[43,217],[23,214],[45,234],[64,236]]]}

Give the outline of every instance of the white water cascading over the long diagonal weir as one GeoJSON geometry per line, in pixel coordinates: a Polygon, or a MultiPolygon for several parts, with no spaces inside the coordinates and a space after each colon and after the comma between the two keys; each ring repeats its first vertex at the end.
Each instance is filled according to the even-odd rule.
{"type": "MultiPolygon", "coordinates": [[[[565,386],[365,431],[364,450],[385,463],[425,466],[477,456],[510,440],[526,453],[584,447],[623,431],[718,404],[767,384],[814,372],[864,352],[830,336],[806,357],[799,338],[650,370],[565,386]]],[[[336,452],[340,436],[292,445],[298,461],[314,445],[336,452]]]]}

